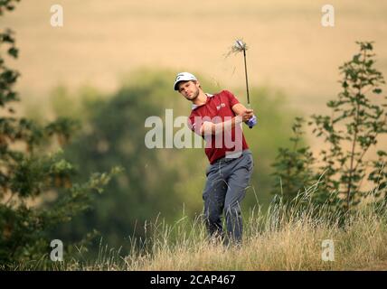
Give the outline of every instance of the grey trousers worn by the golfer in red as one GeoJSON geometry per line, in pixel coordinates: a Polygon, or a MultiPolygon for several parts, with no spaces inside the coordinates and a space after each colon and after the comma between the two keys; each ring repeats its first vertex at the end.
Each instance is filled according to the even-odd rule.
{"type": "Polygon", "coordinates": [[[222,228],[224,213],[228,239],[241,242],[241,200],[249,186],[253,166],[250,150],[244,150],[239,158],[224,157],[207,167],[203,216],[210,236],[225,237],[222,228]]]}

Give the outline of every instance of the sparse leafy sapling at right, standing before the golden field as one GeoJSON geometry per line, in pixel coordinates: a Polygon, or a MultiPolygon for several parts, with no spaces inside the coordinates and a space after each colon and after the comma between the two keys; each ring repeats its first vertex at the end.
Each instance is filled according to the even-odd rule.
{"type": "MultiPolygon", "coordinates": [[[[385,151],[377,152],[377,161],[365,158],[370,148],[376,147],[380,136],[387,133],[387,113],[383,108],[387,106],[387,97],[384,101],[381,97],[384,79],[382,73],[374,68],[373,42],[356,43],[360,51],[339,68],[343,75],[340,80],[343,91],[337,99],[327,103],[332,115],[313,115],[308,122],[313,127],[313,133],[323,137],[328,147],[320,151],[315,163],[314,180],[316,182],[322,176],[323,181],[315,200],[328,201],[335,208],[345,211],[351,210],[369,194],[363,191],[364,179],[377,187],[375,196],[379,197],[386,187],[387,176],[385,151]]],[[[301,153],[295,155],[280,150],[277,175],[292,177],[287,172],[293,172],[297,162],[300,167],[310,169],[306,157],[310,151],[307,149],[301,153]]],[[[298,179],[299,176],[295,180],[298,179]]]]}

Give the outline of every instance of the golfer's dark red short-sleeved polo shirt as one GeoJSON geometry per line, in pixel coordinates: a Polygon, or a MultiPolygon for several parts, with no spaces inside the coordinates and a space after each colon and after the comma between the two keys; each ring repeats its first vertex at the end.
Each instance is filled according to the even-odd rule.
{"type": "MultiPolygon", "coordinates": [[[[239,100],[228,90],[222,90],[215,95],[207,94],[205,104],[193,105],[191,115],[188,117],[188,126],[194,133],[200,135],[200,127],[204,121],[219,123],[235,117],[232,107],[238,103],[240,103],[239,100]]],[[[226,156],[226,152],[236,153],[249,148],[239,127],[232,127],[231,131],[222,132],[220,135],[209,135],[203,138],[206,140],[204,151],[210,163],[226,156]],[[238,129],[237,134],[236,129],[238,129]]]]}

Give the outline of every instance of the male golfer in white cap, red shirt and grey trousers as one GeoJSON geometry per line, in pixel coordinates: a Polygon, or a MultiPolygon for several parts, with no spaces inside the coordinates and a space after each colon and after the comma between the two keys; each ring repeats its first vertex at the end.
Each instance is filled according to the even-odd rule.
{"type": "Polygon", "coordinates": [[[255,126],[257,118],[253,110],[241,105],[230,91],[222,90],[214,95],[204,93],[191,73],[177,74],[175,90],[192,101],[188,126],[206,141],[205,154],[210,161],[203,190],[206,228],[212,238],[225,244],[241,244],[241,200],[254,165],[241,124],[255,126]],[[223,212],[227,238],[222,228],[223,212]]]}

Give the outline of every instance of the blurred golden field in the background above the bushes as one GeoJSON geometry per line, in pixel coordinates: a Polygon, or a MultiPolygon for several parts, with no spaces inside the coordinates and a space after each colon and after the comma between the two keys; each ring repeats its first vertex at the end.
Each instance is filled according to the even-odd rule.
{"type": "Polygon", "coordinates": [[[33,101],[58,84],[110,92],[144,66],[201,73],[219,89],[243,87],[241,56],[224,58],[242,37],[250,85],[282,89],[291,106],[311,113],[337,94],[338,66],[355,41],[375,42],[376,67],[387,74],[386,16],[387,3],[377,0],[40,0],[22,1],[1,25],[17,33],[21,54],[12,64],[23,74],[19,91],[33,101]],[[55,4],[63,7],[61,28],[50,24],[55,4]],[[321,25],[326,4],[335,7],[335,27],[321,25]]]}

